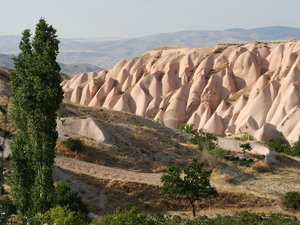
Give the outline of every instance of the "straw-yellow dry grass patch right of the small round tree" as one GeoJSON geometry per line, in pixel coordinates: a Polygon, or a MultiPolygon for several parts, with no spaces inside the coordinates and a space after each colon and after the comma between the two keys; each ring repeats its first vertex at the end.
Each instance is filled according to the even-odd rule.
{"type": "Polygon", "coordinates": [[[277,200],[287,191],[300,190],[299,161],[285,157],[275,165],[266,166],[262,161],[255,164],[254,168],[258,168],[257,170],[223,164],[214,171],[212,183],[222,191],[248,193],[277,200]],[[266,167],[269,168],[268,171],[266,167]]]}

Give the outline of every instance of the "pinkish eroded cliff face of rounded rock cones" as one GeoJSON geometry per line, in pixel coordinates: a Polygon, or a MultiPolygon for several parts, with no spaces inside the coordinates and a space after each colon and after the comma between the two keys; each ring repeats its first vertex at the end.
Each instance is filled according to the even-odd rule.
{"type": "Polygon", "coordinates": [[[65,98],[218,135],[300,136],[300,41],[157,49],[62,83],[65,98]]]}

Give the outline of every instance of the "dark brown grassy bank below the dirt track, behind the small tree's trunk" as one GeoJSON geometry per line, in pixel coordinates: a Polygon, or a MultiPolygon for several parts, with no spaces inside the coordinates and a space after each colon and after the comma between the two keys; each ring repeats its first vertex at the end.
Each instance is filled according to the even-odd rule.
{"type": "MultiPolygon", "coordinates": [[[[70,173],[70,172],[68,172],[70,173]]],[[[73,173],[71,173],[73,174],[73,173]]],[[[161,193],[160,187],[125,183],[120,181],[98,180],[85,175],[73,174],[81,182],[93,185],[105,194],[105,210],[97,205],[90,205],[93,212],[101,214],[112,213],[115,208],[138,207],[140,210],[148,212],[167,212],[167,211],[187,211],[190,205],[182,196],[170,196],[161,193]],[[155,196],[155,198],[153,198],[155,196]]],[[[254,195],[240,193],[219,192],[219,196],[213,199],[206,199],[197,203],[200,210],[218,210],[231,208],[241,210],[244,208],[272,208],[277,206],[275,200],[269,200],[254,195]]]]}

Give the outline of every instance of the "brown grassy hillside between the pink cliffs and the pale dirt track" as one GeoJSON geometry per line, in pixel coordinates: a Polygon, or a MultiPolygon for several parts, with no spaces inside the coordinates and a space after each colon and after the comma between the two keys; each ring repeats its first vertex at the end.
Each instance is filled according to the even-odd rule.
{"type": "Polygon", "coordinates": [[[85,147],[81,152],[68,151],[58,142],[57,153],[61,155],[147,172],[165,171],[175,164],[186,165],[192,156],[199,157],[196,149],[184,145],[187,141],[177,132],[129,113],[65,102],[59,116],[93,117],[105,123],[109,134],[109,145],[82,138],[85,147]]]}

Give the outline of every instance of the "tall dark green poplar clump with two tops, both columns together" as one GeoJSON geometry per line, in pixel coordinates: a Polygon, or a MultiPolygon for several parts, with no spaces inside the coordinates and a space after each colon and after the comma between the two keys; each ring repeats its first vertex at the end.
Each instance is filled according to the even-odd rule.
{"type": "Polygon", "coordinates": [[[10,183],[23,214],[44,212],[51,205],[56,111],[63,99],[56,30],[40,19],[32,42],[30,36],[29,30],[23,32],[11,77],[11,118],[17,133],[10,145],[10,183]]]}

